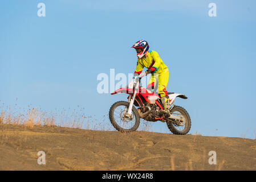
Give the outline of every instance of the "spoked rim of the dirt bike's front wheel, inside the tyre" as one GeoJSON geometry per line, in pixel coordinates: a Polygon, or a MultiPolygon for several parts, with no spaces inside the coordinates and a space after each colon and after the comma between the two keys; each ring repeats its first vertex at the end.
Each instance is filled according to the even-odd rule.
{"type": "Polygon", "coordinates": [[[136,124],[136,117],[133,111],[131,113],[131,118],[125,116],[127,111],[128,107],[125,105],[119,105],[113,110],[113,119],[115,119],[116,124],[124,130],[130,130],[136,124]]]}

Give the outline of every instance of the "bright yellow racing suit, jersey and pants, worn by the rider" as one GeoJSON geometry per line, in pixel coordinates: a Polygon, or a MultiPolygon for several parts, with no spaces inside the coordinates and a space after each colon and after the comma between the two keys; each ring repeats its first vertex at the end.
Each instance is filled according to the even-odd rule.
{"type": "Polygon", "coordinates": [[[156,51],[148,51],[147,55],[139,58],[134,73],[140,74],[144,67],[151,70],[152,73],[148,82],[148,89],[153,89],[156,86],[155,83],[158,77],[158,92],[160,97],[168,96],[166,86],[169,80],[169,69],[156,51]]]}

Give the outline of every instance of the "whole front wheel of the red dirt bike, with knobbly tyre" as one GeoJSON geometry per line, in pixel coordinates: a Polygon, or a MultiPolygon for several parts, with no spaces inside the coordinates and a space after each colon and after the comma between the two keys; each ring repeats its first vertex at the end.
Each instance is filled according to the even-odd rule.
{"type": "Polygon", "coordinates": [[[131,118],[125,116],[128,111],[129,102],[115,102],[109,109],[109,119],[117,131],[131,132],[138,129],[140,116],[137,109],[132,106],[131,118]]]}

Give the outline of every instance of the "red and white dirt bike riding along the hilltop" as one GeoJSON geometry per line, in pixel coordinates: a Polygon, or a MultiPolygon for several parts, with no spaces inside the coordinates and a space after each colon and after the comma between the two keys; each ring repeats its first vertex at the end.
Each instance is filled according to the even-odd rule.
{"type": "Polygon", "coordinates": [[[140,125],[140,118],[143,118],[151,122],[166,122],[173,134],[187,134],[191,127],[190,116],[183,107],[172,104],[176,97],[184,99],[188,97],[184,94],[168,92],[170,113],[166,114],[159,95],[141,86],[141,78],[146,75],[143,72],[136,78],[133,78],[129,84],[132,84],[132,88],[127,86],[127,88],[120,88],[111,93],[129,94],[128,102],[115,102],[109,110],[109,119],[113,127],[121,132],[135,131],[140,125]],[[133,105],[138,108],[136,109],[133,105]]]}

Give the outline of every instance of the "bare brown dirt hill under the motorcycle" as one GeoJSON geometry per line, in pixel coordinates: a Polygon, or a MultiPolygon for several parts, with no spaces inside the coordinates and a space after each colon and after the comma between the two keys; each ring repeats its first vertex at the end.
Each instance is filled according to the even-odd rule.
{"type": "Polygon", "coordinates": [[[256,140],[0,125],[0,170],[256,170],[256,140]],[[38,164],[38,151],[46,164],[38,164]],[[209,164],[216,151],[217,164],[209,164]]]}

